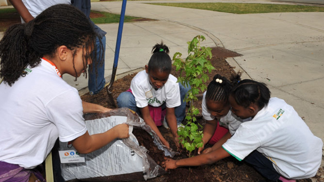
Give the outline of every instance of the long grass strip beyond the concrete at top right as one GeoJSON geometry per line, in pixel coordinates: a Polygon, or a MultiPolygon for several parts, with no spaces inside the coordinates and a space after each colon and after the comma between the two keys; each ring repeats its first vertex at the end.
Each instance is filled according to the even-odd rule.
{"type": "Polygon", "coordinates": [[[285,4],[256,4],[256,3],[149,3],[154,5],[175,6],[211,10],[233,14],[255,13],[284,13],[284,12],[324,12],[324,7],[285,5],[285,4]]]}

